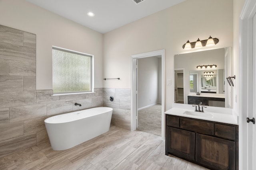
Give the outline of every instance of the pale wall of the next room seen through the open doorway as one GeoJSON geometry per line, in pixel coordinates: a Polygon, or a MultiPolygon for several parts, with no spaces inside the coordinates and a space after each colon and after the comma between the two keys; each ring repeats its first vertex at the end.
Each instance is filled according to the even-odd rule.
{"type": "Polygon", "coordinates": [[[138,109],[158,103],[158,61],[156,57],[138,59],[138,109]]]}

